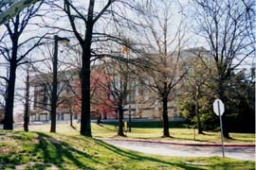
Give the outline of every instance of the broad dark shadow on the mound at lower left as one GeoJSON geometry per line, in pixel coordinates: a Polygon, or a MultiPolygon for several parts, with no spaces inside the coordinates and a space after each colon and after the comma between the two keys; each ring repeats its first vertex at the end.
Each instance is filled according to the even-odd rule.
{"type": "MultiPolygon", "coordinates": [[[[75,164],[78,169],[88,169],[94,170],[94,168],[89,167],[82,162],[82,159],[86,158],[94,163],[98,163],[93,159],[90,155],[80,150],[75,149],[70,144],[65,142],[58,141],[52,136],[46,135],[45,133],[36,132],[38,134],[39,144],[37,144],[33,150],[33,153],[37,154],[38,161],[43,161],[43,166],[41,169],[46,169],[47,167],[54,164],[60,169],[68,169],[68,167],[64,167],[64,161],[71,161],[71,164],[75,164]],[[40,154],[38,154],[40,153],[40,154]]],[[[37,168],[39,164],[35,164],[34,168],[37,168]]],[[[33,169],[33,167],[31,167],[33,169]]]]}

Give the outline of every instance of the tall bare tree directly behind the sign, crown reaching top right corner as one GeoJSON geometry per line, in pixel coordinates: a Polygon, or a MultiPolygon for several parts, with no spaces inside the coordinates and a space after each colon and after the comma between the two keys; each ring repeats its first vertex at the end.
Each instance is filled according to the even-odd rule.
{"type": "MultiPolygon", "coordinates": [[[[218,98],[227,102],[227,80],[230,73],[255,52],[253,1],[241,0],[196,0],[194,17],[198,24],[197,32],[205,38],[210,56],[215,61],[217,83],[214,89],[218,98]]],[[[223,115],[224,136],[229,138],[229,106],[223,115]]]]}

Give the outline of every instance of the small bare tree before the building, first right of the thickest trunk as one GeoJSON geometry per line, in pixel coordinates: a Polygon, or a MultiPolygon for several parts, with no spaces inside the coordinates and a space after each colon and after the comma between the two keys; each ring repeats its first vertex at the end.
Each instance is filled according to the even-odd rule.
{"type": "Polygon", "coordinates": [[[131,104],[134,97],[132,84],[135,84],[133,68],[128,62],[119,59],[111,59],[101,64],[103,72],[101,81],[98,82],[98,92],[92,98],[96,105],[105,105],[118,112],[119,136],[125,136],[123,132],[124,110],[131,104]],[[100,92],[100,93],[99,93],[100,92]],[[104,95],[102,95],[104,93],[104,95]]]}

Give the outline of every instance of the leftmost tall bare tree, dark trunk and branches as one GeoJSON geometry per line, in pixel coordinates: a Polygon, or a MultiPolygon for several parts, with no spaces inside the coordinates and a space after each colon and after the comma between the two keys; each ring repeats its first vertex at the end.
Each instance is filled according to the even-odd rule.
{"type": "Polygon", "coordinates": [[[1,37],[0,53],[4,56],[9,64],[4,129],[13,128],[13,103],[16,69],[19,65],[26,62],[25,58],[27,54],[30,53],[37,45],[39,45],[43,39],[37,39],[38,37],[30,37],[25,40],[21,39],[22,34],[26,31],[29,21],[36,17],[36,12],[41,7],[41,5],[42,2],[37,5],[32,5],[29,8],[25,8],[22,12],[4,24],[7,31],[3,34],[3,37],[1,37]],[[36,39],[37,42],[30,43],[30,46],[27,49],[24,48],[26,44],[36,39]]]}

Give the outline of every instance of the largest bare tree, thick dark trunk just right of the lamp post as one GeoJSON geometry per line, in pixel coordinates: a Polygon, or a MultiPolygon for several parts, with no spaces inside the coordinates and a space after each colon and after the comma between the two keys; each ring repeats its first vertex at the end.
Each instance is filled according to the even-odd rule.
{"type": "MultiPolygon", "coordinates": [[[[118,42],[121,40],[118,36],[108,34],[106,29],[101,30],[102,26],[111,26],[113,30],[117,30],[119,26],[119,21],[116,17],[121,17],[118,12],[114,11],[114,3],[119,2],[124,6],[128,2],[118,1],[118,0],[108,0],[105,3],[98,2],[95,0],[90,0],[87,3],[80,1],[75,3],[70,0],[64,0],[64,8],[60,4],[54,4],[53,6],[61,8],[64,10],[67,18],[70,22],[71,31],[74,33],[75,38],[79,42],[82,49],[82,66],[80,72],[81,78],[81,89],[82,89],[82,117],[81,117],[81,134],[84,136],[91,136],[91,125],[90,125],[90,74],[91,74],[91,63],[95,59],[103,58],[108,56],[109,51],[105,51],[104,48],[98,48],[95,44],[97,42],[118,42]],[[105,20],[105,21],[103,21],[105,20]],[[110,22],[109,21],[114,22],[110,22]],[[115,23],[116,22],[116,23],[115,23]],[[100,31],[101,30],[101,31],[100,31]]],[[[118,4],[118,3],[116,3],[118,4]]],[[[127,5],[128,6],[128,5],[127,5]]],[[[119,9],[120,10],[120,9],[119,9]]],[[[70,30],[67,30],[70,31],[70,30]]],[[[119,32],[119,31],[117,31],[119,32]]],[[[115,32],[116,33],[116,32],[115,32]]],[[[114,34],[114,33],[113,33],[114,34]]],[[[108,49],[109,50],[109,49],[108,49]]]]}

